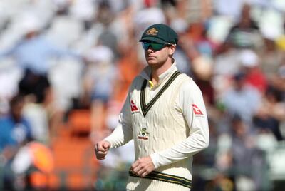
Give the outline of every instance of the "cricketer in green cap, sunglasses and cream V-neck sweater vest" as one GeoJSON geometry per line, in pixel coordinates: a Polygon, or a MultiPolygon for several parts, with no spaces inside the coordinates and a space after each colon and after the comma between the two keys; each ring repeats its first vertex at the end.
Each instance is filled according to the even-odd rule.
{"type": "Polygon", "coordinates": [[[140,42],[148,66],[130,86],[118,127],[95,145],[96,157],[103,160],[110,148],[133,139],[135,162],[127,190],[190,190],[192,155],[209,144],[202,93],[177,71],[173,29],[154,24],[140,42]]]}

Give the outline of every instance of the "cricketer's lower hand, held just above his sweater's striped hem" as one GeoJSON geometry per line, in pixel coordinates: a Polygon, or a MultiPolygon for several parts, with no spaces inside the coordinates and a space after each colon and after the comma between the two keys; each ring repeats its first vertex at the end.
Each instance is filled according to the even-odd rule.
{"type": "Polygon", "coordinates": [[[152,172],[152,170],[155,170],[155,165],[153,165],[150,156],[147,156],[136,160],[131,166],[130,170],[141,177],[145,177],[152,172]]]}

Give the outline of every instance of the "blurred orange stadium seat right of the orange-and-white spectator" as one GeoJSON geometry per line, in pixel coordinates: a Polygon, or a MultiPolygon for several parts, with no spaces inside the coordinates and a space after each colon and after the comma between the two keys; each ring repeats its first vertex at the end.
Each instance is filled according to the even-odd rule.
{"type": "Polygon", "coordinates": [[[88,138],[55,138],[52,146],[54,172],[49,177],[52,190],[92,188],[98,170],[93,145],[88,138]]]}

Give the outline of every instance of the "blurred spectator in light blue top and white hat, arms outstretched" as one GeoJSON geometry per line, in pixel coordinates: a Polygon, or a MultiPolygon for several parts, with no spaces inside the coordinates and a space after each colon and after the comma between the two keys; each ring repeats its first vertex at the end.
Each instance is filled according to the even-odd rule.
{"type": "Polygon", "coordinates": [[[51,87],[48,80],[52,56],[76,56],[67,50],[53,46],[41,35],[40,21],[31,16],[22,24],[24,38],[14,47],[0,53],[0,58],[14,56],[16,63],[24,70],[24,76],[19,83],[19,91],[24,95],[35,96],[36,103],[43,103],[48,88],[51,87]]]}

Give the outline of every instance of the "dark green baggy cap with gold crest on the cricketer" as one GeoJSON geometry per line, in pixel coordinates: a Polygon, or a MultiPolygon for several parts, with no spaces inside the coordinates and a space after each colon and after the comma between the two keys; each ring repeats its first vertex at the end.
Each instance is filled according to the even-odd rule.
{"type": "Polygon", "coordinates": [[[177,33],[166,24],[154,24],[149,26],[143,33],[140,42],[154,41],[156,43],[177,44],[177,33]]]}

